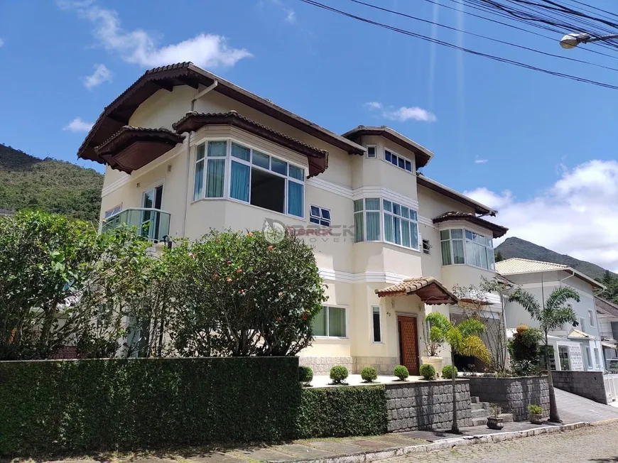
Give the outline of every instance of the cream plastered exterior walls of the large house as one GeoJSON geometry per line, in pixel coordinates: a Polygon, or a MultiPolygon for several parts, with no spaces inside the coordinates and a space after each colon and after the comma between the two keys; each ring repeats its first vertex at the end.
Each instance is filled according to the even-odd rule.
{"type": "MultiPolygon", "coordinates": [[[[196,90],[174,87],[173,92],[161,90],[153,94],[134,112],[131,126],[171,129],[190,109],[190,100],[196,90]]],[[[418,212],[419,249],[409,249],[384,242],[384,222],[381,223],[382,241],[354,243],[352,234],[342,236],[303,236],[314,246],[320,274],[327,284],[326,305],[346,309],[345,337],[317,337],[313,346],[301,352],[305,364],[314,369],[343,363],[358,371],[362,366],[376,366],[381,373],[391,373],[400,363],[398,315],[416,317],[418,355],[424,354],[423,316],[437,310],[449,315],[446,305],[425,306],[416,295],[398,298],[379,298],[375,291],[398,283],[404,278],[433,276],[447,288],[452,285],[479,284],[481,276],[491,278],[494,271],[460,264],[443,266],[440,251],[440,229],[465,228],[484,236],[492,231],[467,222],[433,224],[433,217],[448,211],[474,212],[472,207],[420,187],[416,183],[416,158],[412,151],[379,136],[364,136],[363,146],[376,146],[376,158],[352,156],[296,127],[284,124],[256,109],[241,104],[218,92],[210,92],[195,102],[195,110],[224,112],[235,110],[271,129],[328,151],[328,168],[314,178],[305,179],[305,217],[272,212],[230,198],[193,200],[196,147],[215,140],[234,141],[255,148],[301,168],[308,168],[308,160],[295,151],[264,140],[242,129],[230,126],[207,126],[185,138],[185,142],[171,149],[131,175],[109,167],[105,173],[102,191],[101,217],[104,212],[121,205],[123,209],[141,207],[143,192],[152,185],[163,185],[162,209],[171,214],[170,235],[195,239],[211,227],[215,229],[262,229],[265,219],[274,219],[287,226],[308,227],[310,205],[330,209],[335,231],[350,229],[354,224],[354,200],[381,198],[409,207],[418,212]],[[384,160],[384,149],[389,149],[413,163],[413,172],[398,168],[384,160]],[[430,252],[424,254],[422,239],[430,241],[430,252]],[[373,339],[373,307],[379,307],[381,340],[373,339]]],[[[226,186],[229,183],[227,159],[226,186]]],[[[319,229],[319,227],[315,227],[319,229]]],[[[450,352],[443,350],[445,363],[450,352]]]]}

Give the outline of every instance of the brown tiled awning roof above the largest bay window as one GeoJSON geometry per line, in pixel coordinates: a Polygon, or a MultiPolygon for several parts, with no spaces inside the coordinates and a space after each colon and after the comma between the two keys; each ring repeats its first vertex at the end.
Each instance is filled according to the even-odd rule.
{"type": "Polygon", "coordinates": [[[290,148],[291,150],[307,156],[309,159],[310,177],[324,172],[328,167],[328,151],[296,140],[296,138],[282,134],[264,124],[259,124],[256,121],[241,116],[237,111],[222,113],[189,111],[179,121],[172,124],[172,127],[178,134],[182,134],[183,132],[197,131],[203,126],[208,125],[236,126],[239,129],[244,129],[252,134],[261,136],[261,138],[266,138],[266,140],[278,143],[281,146],[285,146],[286,148],[290,148]]]}

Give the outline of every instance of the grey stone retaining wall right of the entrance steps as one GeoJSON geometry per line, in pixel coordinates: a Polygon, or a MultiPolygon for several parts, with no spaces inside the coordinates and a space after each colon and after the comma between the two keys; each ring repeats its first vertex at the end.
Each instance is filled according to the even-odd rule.
{"type": "Polygon", "coordinates": [[[471,376],[470,396],[481,402],[497,403],[515,421],[528,420],[528,405],[541,405],[543,416],[549,416],[549,386],[546,376],[492,378],[471,376]]]}

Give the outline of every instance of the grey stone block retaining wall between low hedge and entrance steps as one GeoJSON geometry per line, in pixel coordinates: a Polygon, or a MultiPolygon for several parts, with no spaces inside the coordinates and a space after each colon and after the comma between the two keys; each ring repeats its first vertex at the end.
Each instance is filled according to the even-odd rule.
{"type": "MultiPolygon", "coordinates": [[[[457,420],[460,427],[472,425],[470,383],[455,385],[457,420]]],[[[386,409],[389,432],[450,427],[452,424],[452,385],[445,381],[386,384],[386,409]]]]}

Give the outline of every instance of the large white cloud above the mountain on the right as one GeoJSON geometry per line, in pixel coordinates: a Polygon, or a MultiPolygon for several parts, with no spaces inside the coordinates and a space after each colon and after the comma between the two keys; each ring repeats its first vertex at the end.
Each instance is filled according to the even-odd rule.
{"type": "MultiPolygon", "coordinates": [[[[548,190],[518,201],[509,191],[465,195],[499,209],[493,222],[540,246],[618,270],[618,162],[591,160],[566,170],[548,190]]],[[[502,240],[499,240],[502,241],[502,240]]]]}

